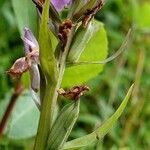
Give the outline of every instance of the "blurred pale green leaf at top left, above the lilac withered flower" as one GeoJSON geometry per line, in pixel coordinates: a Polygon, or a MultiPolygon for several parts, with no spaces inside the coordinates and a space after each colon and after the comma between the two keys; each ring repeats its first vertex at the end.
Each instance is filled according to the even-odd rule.
{"type": "Polygon", "coordinates": [[[20,34],[23,35],[24,27],[28,27],[35,32],[37,28],[37,12],[32,0],[12,0],[12,6],[20,34]]]}

